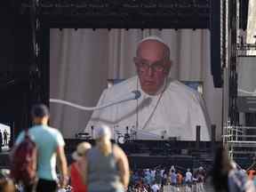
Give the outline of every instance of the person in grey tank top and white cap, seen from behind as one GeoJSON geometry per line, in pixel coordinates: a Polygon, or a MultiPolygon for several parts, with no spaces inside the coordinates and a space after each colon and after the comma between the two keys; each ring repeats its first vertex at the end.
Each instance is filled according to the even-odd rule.
{"type": "Polygon", "coordinates": [[[124,151],[111,143],[108,126],[96,130],[96,145],[84,160],[83,179],[89,192],[124,192],[129,183],[129,164],[124,151]]]}

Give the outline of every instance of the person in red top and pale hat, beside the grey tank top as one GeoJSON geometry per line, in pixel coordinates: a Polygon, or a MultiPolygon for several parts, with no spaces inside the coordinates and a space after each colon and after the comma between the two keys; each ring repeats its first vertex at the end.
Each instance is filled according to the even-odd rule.
{"type": "Polygon", "coordinates": [[[68,168],[68,173],[71,180],[71,187],[73,192],[86,192],[87,187],[83,183],[82,173],[81,173],[81,160],[86,152],[92,148],[91,144],[88,142],[81,142],[76,147],[76,151],[73,152],[72,158],[75,160],[74,163],[70,164],[68,168]]]}

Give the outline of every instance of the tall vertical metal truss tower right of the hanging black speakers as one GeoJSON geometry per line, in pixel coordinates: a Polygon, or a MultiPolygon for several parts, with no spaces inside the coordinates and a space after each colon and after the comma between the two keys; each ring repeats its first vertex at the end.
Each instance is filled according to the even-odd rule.
{"type": "MultiPolygon", "coordinates": [[[[223,127],[239,124],[237,99],[237,31],[239,1],[221,1],[221,65],[223,68],[223,127]]],[[[225,135],[223,128],[223,135],[225,135]]],[[[225,142],[225,140],[223,140],[225,142]]]]}

